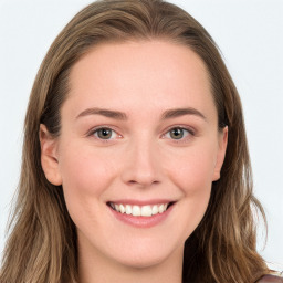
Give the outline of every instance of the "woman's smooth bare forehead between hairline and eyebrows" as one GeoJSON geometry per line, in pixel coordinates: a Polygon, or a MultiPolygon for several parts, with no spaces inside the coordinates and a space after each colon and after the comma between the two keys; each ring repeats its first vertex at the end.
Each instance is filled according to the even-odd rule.
{"type": "Polygon", "coordinates": [[[202,108],[213,104],[208,77],[202,60],[185,45],[157,40],[104,43],[73,66],[69,99],[81,109],[90,104],[138,111],[185,103],[202,108]]]}

